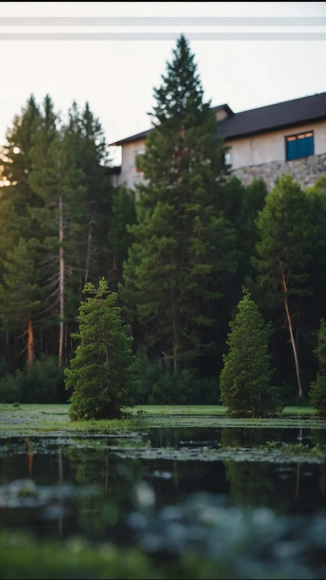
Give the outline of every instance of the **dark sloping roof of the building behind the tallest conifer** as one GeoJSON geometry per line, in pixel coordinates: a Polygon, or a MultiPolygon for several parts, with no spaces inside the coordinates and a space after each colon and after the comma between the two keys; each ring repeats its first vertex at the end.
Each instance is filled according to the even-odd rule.
{"type": "MultiPolygon", "coordinates": [[[[326,119],[326,93],[267,105],[241,113],[233,113],[227,104],[213,107],[213,111],[223,108],[229,117],[219,121],[218,135],[224,139],[239,139],[240,137],[258,135],[259,133],[277,131],[278,129],[326,119]]],[[[153,129],[126,137],[126,139],[111,143],[111,146],[142,140],[151,131],[153,129]]]]}

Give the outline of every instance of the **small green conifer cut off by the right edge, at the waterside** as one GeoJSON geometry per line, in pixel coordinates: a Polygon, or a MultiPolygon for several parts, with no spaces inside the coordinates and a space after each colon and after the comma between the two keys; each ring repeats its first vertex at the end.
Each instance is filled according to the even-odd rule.
{"type": "Polygon", "coordinates": [[[326,416],[326,322],[320,321],[317,347],[314,354],[318,361],[316,382],[311,383],[310,400],[318,415],[326,416]]]}

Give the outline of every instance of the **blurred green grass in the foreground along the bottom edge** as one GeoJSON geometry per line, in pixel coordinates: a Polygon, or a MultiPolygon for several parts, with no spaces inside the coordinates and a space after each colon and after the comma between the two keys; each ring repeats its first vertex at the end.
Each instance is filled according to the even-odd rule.
{"type": "Polygon", "coordinates": [[[155,561],[139,549],[91,546],[79,538],[42,542],[0,534],[0,578],[236,578],[233,570],[200,557],[155,561]]]}

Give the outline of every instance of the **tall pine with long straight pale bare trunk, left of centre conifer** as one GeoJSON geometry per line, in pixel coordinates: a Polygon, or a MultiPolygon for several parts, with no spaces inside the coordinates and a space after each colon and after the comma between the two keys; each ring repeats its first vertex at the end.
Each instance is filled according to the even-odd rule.
{"type": "MultiPolygon", "coordinates": [[[[41,208],[31,214],[39,224],[44,249],[44,269],[52,306],[59,305],[59,367],[63,364],[64,322],[66,314],[67,279],[79,266],[78,231],[83,215],[84,174],[75,163],[74,150],[64,131],[55,131],[49,142],[46,123],[34,138],[30,155],[30,184],[39,195],[41,208]],[[42,233],[41,233],[42,231],[42,233]]],[[[76,305],[77,306],[77,305],[76,305]]],[[[50,306],[49,306],[50,307],[50,306]]]]}

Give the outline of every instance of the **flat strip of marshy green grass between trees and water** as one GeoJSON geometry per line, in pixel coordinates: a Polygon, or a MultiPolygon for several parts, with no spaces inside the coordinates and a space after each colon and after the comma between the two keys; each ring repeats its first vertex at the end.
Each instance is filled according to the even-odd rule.
{"type": "Polygon", "coordinates": [[[278,418],[236,419],[222,405],[137,405],[123,419],[71,421],[69,404],[0,405],[0,434],[26,433],[127,433],[144,427],[326,427],[312,407],[285,407],[278,418]]]}

